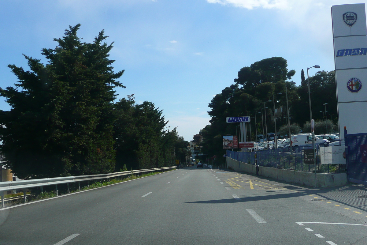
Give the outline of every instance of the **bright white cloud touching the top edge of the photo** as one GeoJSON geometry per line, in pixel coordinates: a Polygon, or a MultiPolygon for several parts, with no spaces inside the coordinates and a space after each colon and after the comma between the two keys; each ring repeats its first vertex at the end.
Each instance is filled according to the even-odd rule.
{"type": "Polygon", "coordinates": [[[219,3],[222,5],[232,5],[235,7],[247,8],[289,8],[288,0],[207,0],[208,3],[219,3]]]}

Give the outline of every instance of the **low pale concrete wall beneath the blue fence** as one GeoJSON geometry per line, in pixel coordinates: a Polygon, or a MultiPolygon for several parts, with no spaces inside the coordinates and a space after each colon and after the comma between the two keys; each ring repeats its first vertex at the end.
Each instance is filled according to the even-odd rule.
{"type": "MultiPolygon", "coordinates": [[[[239,162],[228,156],[227,166],[232,167],[235,171],[256,174],[255,165],[239,162]]],[[[315,173],[310,172],[259,166],[259,175],[297,184],[315,186],[315,173]]],[[[316,183],[317,187],[342,186],[348,183],[348,178],[345,173],[316,173],[316,183]]]]}

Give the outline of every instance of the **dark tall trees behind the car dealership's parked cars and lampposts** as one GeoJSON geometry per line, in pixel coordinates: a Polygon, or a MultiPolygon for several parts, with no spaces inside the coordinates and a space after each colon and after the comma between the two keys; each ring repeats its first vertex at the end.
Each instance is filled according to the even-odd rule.
{"type": "MultiPolygon", "coordinates": [[[[280,130],[283,136],[287,135],[286,94],[288,96],[291,133],[299,133],[301,129],[305,132],[309,130],[307,79],[305,79],[302,69],[301,85],[295,86],[295,82],[291,80],[295,75],[295,70],[288,71],[287,66],[287,60],[284,58],[272,57],[240,69],[234,83],[217,94],[209,104],[211,108],[208,111],[211,117],[210,125],[205,126],[199,132],[203,137],[201,143],[203,152],[208,152],[209,155],[224,154],[222,136],[239,135],[238,123],[226,123],[226,117],[251,117],[251,122],[247,123],[247,141],[250,141],[250,128],[253,141],[256,131],[258,134],[263,133],[263,126],[264,132],[266,126],[268,133],[275,132],[274,118],[276,118],[277,131],[280,130]],[[267,124],[263,125],[265,118],[267,124]]],[[[337,122],[335,72],[318,71],[309,78],[309,83],[312,117],[322,128],[317,129],[316,133],[326,133],[326,124],[328,124],[328,133],[330,133],[334,123],[337,122]],[[327,103],[327,121],[324,121],[324,114],[321,113],[325,111],[323,105],[325,103],[327,103]]]]}

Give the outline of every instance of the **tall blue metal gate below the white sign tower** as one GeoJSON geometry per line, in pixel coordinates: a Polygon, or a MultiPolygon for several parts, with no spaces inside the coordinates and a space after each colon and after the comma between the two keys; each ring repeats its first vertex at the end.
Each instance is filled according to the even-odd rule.
{"type": "Polygon", "coordinates": [[[367,133],[347,134],[344,130],[348,181],[367,185],[367,133]]]}

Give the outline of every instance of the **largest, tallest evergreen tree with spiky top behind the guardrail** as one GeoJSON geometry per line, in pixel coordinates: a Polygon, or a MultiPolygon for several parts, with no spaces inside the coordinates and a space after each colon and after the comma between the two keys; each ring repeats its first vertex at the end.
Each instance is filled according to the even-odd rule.
{"type": "Polygon", "coordinates": [[[9,65],[18,83],[0,90],[11,105],[0,113],[1,151],[20,178],[114,170],[113,89],[123,87],[116,79],[124,71],[113,72],[103,30],[83,43],[79,27],[43,49],[48,64],[25,56],[30,71],[9,65]]]}

